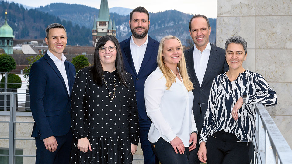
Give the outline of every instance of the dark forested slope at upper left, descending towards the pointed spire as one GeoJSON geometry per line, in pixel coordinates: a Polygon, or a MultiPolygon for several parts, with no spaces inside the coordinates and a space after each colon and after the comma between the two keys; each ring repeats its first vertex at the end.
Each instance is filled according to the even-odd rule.
{"type": "Polygon", "coordinates": [[[19,6],[14,2],[0,1],[1,26],[5,22],[5,9],[8,12],[7,21],[13,29],[15,39],[43,39],[47,25],[57,22],[67,29],[68,45],[92,45],[89,42],[92,40],[91,29],[36,9],[26,10],[22,5],[19,6]]]}

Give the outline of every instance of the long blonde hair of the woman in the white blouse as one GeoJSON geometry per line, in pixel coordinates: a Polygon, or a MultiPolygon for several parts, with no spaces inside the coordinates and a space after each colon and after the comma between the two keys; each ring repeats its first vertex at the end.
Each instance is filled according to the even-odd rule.
{"type": "Polygon", "coordinates": [[[166,65],[164,63],[164,58],[162,56],[164,43],[166,40],[169,40],[169,39],[176,39],[179,41],[179,44],[180,44],[180,47],[182,50],[182,59],[177,64],[177,67],[179,67],[179,73],[181,75],[181,78],[183,80],[183,84],[185,85],[186,89],[188,91],[192,91],[194,89],[193,83],[189,79],[188,71],[186,69],[186,61],[185,61],[185,56],[183,54],[182,43],[180,42],[180,40],[177,37],[172,36],[172,35],[165,36],[164,38],[162,38],[160,40],[158,54],[157,54],[158,67],[160,68],[160,70],[163,73],[163,76],[166,79],[166,84],[165,84],[167,87],[166,89],[168,90],[172,86],[172,83],[176,81],[175,74],[172,73],[172,71],[168,67],[166,67],[166,65]]]}

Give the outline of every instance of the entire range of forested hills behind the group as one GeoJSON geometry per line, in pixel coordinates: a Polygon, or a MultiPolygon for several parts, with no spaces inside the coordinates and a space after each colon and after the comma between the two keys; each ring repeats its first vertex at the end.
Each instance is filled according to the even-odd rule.
{"type": "MultiPolygon", "coordinates": [[[[85,5],[52,3],[44,7],[26,10],[22,5],[0,0],[0,25],[5,22],[5,9],[8,11],[7,20],[12,27],[15,39],[43,39],[47,25],[58,22],[67,29],[68,45],[92,46],[92,27],[94,15],[98,18],[99,10],[85,5]]],[[[195,11],[194,11],[195,12],[195,11]]],[[[130,14],[130,13],[129,13],[130,14]]],[[[110,13],[115,19],[117,39],[122,41],[131,35],[129,15],[110,13]]],[[[181,39],[186,47],[193,45],[189,36],[190,14],[176,10],[150,13],[149,36],[160,40],[166,35],[174,35],[181,39]]],[[[216,42],[216,19],[209,19],[211,25],[210,43],[216,42]]]]}

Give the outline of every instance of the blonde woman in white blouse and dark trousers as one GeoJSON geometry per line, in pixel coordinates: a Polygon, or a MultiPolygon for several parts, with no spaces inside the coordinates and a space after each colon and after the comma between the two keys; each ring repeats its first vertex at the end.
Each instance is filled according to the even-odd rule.
{"type": "Polygon", "coordinates": [[[152,121],[148,140],[162,164],[188,163],[189,151],[196,147],[197,128],[193,84],[177,37],[161,39],[157,63],[145,81],[146,112],[152,121]]]}

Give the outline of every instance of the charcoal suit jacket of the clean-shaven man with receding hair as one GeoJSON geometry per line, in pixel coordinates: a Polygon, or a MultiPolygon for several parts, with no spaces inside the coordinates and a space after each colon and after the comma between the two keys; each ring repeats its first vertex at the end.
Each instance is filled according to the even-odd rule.
{"type": "Polygon", "coordinates": [[[211,51],[210,56],[206,68],[206,72],[203,78],[202,86],[198,81],[196,76],[195,68],[194,68],[194,46],[184,52],[186,58],[186,66],[188,68],[189,77],[193,82],[193,94],[194,94],[194,101],[193,101],[193,112],[196,121],[196,126],[198,132],[201,131],[203,127],[203,120],[205,117],[205,113],[207,111],[207,102],[210,95],[210,89],[212,86],[212,82],[214,78],[224,73],[225,71],[229,70],[229,66],[225,60],[225,50],[213,46],[211,44],[211,51]],[[202,108],[202,116],[200,117],[200,107],[202,108]]]}

